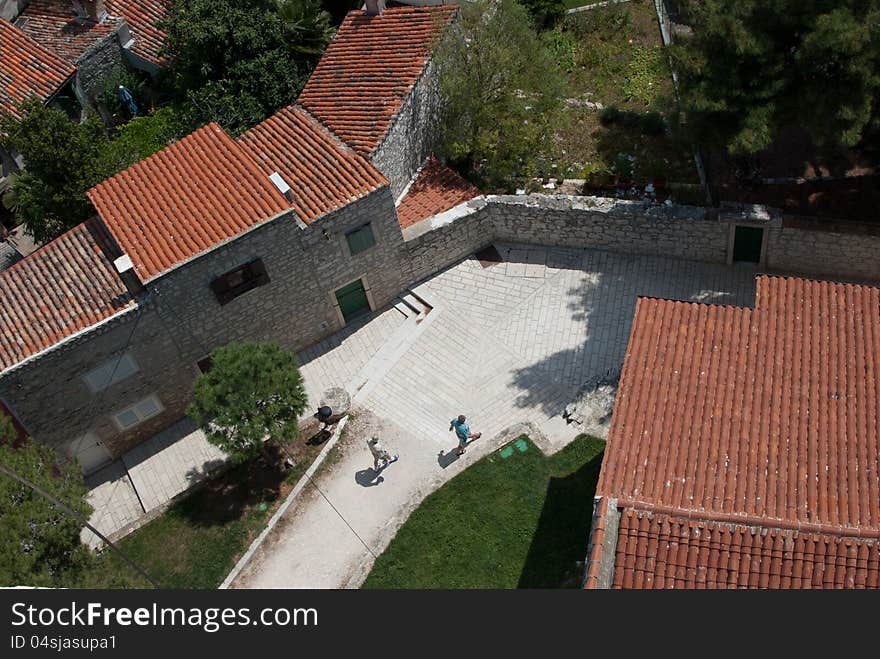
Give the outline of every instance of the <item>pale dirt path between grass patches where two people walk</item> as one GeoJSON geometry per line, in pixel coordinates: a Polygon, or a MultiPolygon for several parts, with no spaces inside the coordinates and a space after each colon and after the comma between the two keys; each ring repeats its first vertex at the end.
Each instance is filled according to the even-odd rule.
{"type": "Polygon", "coordinates": [[[359,587],[374,555],[384,551],[427,494],[512,438],[481,438],[463,458],[455,459],[448,455],[455,437],[446,428],[441,431],[446,433],[446,446],[358,409],[315,484],[306,486],[232,587],[359,587]],[[378,474],[366,445],[373,435],[400,455],[378,474]]]}

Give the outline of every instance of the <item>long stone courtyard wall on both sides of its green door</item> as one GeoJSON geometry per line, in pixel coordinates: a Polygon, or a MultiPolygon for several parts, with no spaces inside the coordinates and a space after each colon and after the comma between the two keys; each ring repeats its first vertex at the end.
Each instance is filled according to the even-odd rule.
{"type": "MultiPolygon", "coordinates": [[[[776,217],[774,214],[773,217],[776,217]]],[[[880,232],[792,226],[695,206],[565,195],[478,197],[404,229],[413,281],[452,265],[492,241],[602,249],[710,263],[731,262],[738,224],[765,230],[763,270],[830,279],[880,281],[880,232]],[[723,216],[722,216],[723,218],[723,216]]]]}

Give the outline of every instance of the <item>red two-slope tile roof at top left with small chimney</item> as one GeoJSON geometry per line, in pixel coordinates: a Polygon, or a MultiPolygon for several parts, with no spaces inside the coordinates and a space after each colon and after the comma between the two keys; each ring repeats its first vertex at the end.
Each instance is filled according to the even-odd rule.
{"type": "Polygon", "coordinates": [[[135,39],[132,52],[158,66],[165,32],[156,22],[168,15],[171,0],[105,0],[108,17],[101,23],[78,21],[70,0],[32,0],[21,13],[21,28],[41,44],[74,62],[111,34],[123,19],[135,39]]]}

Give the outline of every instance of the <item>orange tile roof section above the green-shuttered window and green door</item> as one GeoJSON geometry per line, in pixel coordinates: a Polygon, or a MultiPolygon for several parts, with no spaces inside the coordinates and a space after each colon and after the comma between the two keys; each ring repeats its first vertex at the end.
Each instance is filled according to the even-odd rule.
{"type": "Polygon", "coordinates": [[[293,191],[294,210],[307,223],[387,184],[301,107],[281,110],[239,142],[265,172],[281,174],[293,191]]]}

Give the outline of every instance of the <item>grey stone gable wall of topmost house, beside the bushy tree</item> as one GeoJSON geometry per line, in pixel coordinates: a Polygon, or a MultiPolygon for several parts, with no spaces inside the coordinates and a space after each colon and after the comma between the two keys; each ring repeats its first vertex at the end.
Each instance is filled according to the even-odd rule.
{"type": "Polygon", "coordinates": [[[440,92],[435,66],[428,62],[407,96],[391,130],[371,160],[388,177],[397,199],[434,147],[440,112],[440,92]]]}

